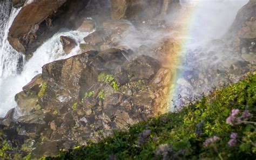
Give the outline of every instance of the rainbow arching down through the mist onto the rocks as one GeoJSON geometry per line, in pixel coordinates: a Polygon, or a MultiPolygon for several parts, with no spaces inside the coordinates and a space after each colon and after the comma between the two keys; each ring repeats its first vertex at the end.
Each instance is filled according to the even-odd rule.
{"type": "Polygon", "coordinates": [[[177,99],[179,84],[177,81],[183,77],[183,73],[179,72],[178,68],[183,67],[183,59],[185,57],[186,51],[188,50],[188,46],[192,43],[192,39],[196,36],[195,33],[195,22],[198,20],[197,16],[200,12],[200,7],[197,5],[187,6],[178,16],[178,20],[180,19],[179,25],[177,26],[176,32],[172,35],[172,37],[177,38],[177,47],[175,48],[175,53],[170,54],[168,58],[169,67],[171,69],[171,82],[170,82],[170,94],[167,96],[169,100],[169,108],[167,108],[167,112],[174,112],[176,104],[174,100],[177,99]]]}

